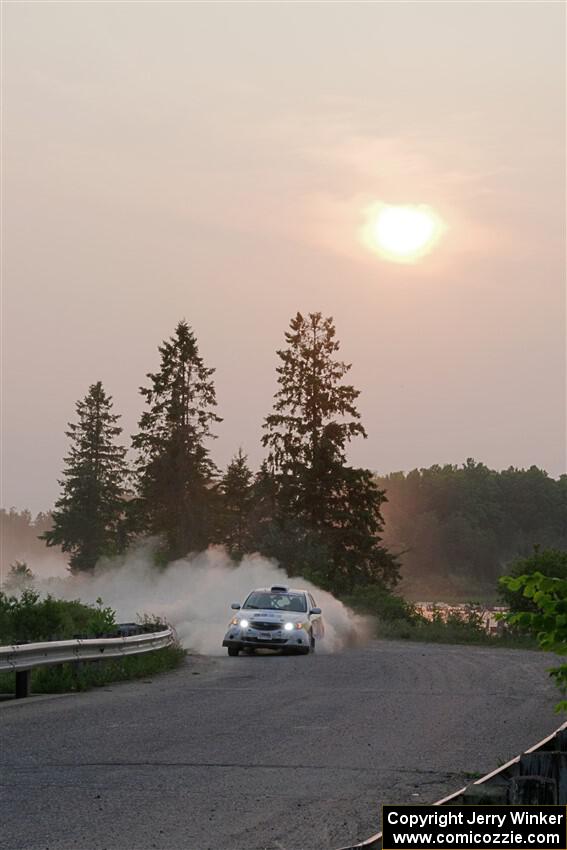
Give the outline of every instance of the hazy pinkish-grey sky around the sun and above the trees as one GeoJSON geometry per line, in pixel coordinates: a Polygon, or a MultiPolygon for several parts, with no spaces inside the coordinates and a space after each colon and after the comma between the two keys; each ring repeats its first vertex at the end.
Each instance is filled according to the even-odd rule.
{"type": "Polygon", "coordinates": [[[48,508],[74,403],[127,435],[185,317],[213,455],[256,465],[275,349],[334,316],[380,472],[566,468],[563,3],[6,3],[4,506],[48,508]],[[377,202],[446,224],[415,264],[377,202]]]}

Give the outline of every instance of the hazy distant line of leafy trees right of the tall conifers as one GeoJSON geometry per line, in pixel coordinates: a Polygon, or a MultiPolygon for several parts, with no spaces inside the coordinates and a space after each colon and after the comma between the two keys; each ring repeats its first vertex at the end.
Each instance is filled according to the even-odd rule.
{"type": "Polygon", "coordinates": [[[378,477],[388,494],[385,543],[403,553],[402,591],[413,599],[494,595],[510,562],[567,549],[567,475],[463,465],[378,477]]]}

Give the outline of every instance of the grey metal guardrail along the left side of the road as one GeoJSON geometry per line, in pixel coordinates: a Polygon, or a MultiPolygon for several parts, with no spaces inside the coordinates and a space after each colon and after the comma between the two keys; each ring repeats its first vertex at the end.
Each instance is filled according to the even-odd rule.
{"type": "Polygon", "coordinates": [[[78,638],[45,643],[0,646],[0,671],[15,671],[16,697],[29,696],[29,674],[34,667],[81,661],[124,658],[163,649],[174,641],[171,628],[159,632],[112,638],[78,638]]]}

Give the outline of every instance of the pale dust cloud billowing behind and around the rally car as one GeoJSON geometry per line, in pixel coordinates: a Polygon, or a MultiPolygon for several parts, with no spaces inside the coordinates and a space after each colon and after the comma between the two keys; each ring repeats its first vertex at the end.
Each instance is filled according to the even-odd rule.
{"type": "Polygon", "coordinates": [[[366,642],[365,618],[345,607],[332,594],[300,577],[288,578],[278,565],[260,555],[247,555],[235,565],[222,547],[174,561],[156,569],[153,546],[147,543],[121,558],[102,561],[92,575],[41,579],[36,587],[62,599],[110,605],[119,622],[144,614],[170,623],[184,647],[204,655],[221,655],[221,643],[233,616],[232,602],[242,603],[256,587],[285,584],[312,592],[323,611],[325,637],[317,651],[337,652],[366,642]]]}

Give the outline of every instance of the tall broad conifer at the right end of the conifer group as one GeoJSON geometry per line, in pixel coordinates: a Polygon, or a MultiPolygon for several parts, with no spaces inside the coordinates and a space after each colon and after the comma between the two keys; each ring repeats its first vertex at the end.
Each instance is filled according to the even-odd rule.
{"type": "Polygon", "coordinates": [[[285,338],[274,410],[264,424],[276,506],[264,548],[288,571],[338,592],[372,582],[393,586],[398,565],[380,545],[385,495],[368,470],[347,465],[347,444],[366,433],[359,391],[343,383],[351,367],[335,356],[333,320],[298,313],[285,338]]]}

